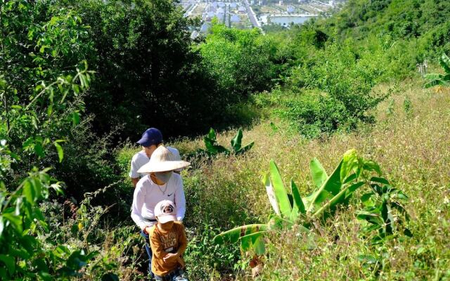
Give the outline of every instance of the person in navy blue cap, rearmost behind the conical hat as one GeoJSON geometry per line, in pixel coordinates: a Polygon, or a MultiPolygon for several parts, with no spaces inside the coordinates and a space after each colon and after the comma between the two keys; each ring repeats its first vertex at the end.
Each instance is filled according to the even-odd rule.
{"type": "MultiPolygon", "coordinates": [[[[131,169],[129,171],[129,177],[131,178],[134,188],[136,188],[139,179],[146,175],[139,173],[138,170],[144,164],[148,163],[153,151],[162,144],[162,133],[156,128],[147,129],[143,132],[141,139],[137,141],[137,143],[142,146],[142,150],[137,152],[133,155],[133,158],[131,158],[131,169]]],[[[181,159],[179,151],[176,150],[176,148],[167,146],[167,149],[174,154],[176,159],[181,159]]],[[[179,173],[179,171],[175,172],[179,173]]]]}

